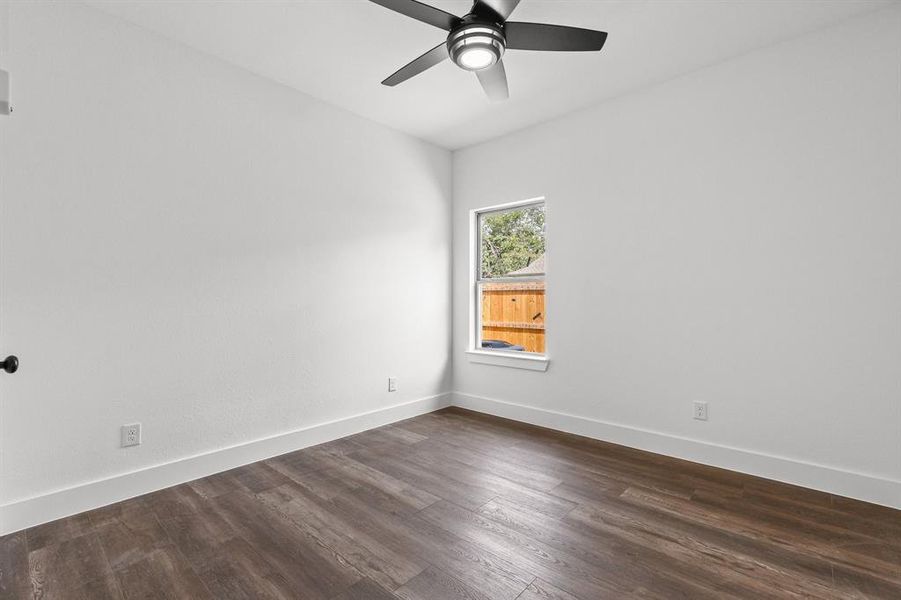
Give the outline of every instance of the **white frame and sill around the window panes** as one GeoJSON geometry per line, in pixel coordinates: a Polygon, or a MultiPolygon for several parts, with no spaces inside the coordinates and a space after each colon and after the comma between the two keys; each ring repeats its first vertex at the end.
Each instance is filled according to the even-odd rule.
{"type": "MultiPolygon", "coordinates": [[[[522,281],[521,277],[504,277],[494,278],[490,280],[482,279],[481,265],[481,246],[482,246],[482,230],[479,226],[479,217],[484,214],[494,212],[504,212],[526,206],[535,206],[543,204],[545,210],[545,239],[547,239],[547,199],[543,196],[538,198],[529,198],[528,200],[519,200],[517,202],[508,202],[506,204],[498,204],[495,206],[487,206],[485,208],[477,208],[469,211],[469,345],[466,354],[469,362],[495,365],[500,367],[513,367],[516,369],[527,369],[530,371],[546,371],[550,359],[548,358],[548,335],[545,330],[544,353],[537,352],[510,352],[507,350],[487,350],[482,348],[482,302],[479,297],[479,285],[483,281],[495,282],[511,282],[522,281]]],[[[545,254],[545,261],[547,255],[545,254]]],[[[546,280],[547,262],[545,262],[545,274],[541,277],[546,280]]],[[[529,277],[529,279],[536,279],[529,277]]],[[[547,292],[545,292],[547,293],[547,292]]],[[[547,305],[545,305],[547,312],[547,305]]],[[[547,323],[547,314],[545,314],[545,323],[547,323]]]]}

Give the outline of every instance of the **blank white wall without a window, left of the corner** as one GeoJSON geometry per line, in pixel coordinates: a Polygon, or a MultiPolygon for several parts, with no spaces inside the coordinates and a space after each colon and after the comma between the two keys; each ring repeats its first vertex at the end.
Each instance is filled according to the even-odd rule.
{"type": "Polygon", "coordinates": [[[0,505],[449,388],[449,152],[94,9],[8,8],[0,505]]]}

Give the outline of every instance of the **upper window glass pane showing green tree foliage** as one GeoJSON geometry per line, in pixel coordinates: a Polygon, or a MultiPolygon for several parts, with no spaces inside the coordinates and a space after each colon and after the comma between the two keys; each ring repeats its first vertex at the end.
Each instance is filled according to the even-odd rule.
{"type": "Polygon", "coordinates": [[[544,205],[479,216],[481,278],[544,274],[544,205]]]}

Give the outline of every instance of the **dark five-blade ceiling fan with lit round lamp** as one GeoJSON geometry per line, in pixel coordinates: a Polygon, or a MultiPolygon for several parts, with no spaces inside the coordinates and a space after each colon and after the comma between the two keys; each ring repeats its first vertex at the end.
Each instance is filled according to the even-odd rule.
{"type": "Polygon", "coordinates": [[[507,21],[520,0],[475,0],[463,17],[416,0],[370,1],[448,32],[447,41],[382,82],[392,87],[450,58],[461,69],[475,72],[490,100],[506,100],[510,93],[501,60],[505,50],[596,52],[607,39],[605,32],[592,29],[507,21]]]}

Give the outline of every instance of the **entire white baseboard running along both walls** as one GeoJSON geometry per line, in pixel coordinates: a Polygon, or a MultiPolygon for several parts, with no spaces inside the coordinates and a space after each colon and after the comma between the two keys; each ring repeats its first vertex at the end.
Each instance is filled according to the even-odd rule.
{"type": "Polygon", "coordinates": [[[447,392],[12,502],[0,506],[0,535],[450,405],[901,509],[901,481],[472,394],[447,392]]]}

